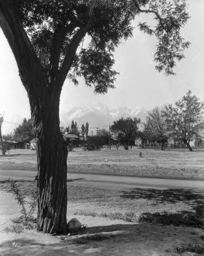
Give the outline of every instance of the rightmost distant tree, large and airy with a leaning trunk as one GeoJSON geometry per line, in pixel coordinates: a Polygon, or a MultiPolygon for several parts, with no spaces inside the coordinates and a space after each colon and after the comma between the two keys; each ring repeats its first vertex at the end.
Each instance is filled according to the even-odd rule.
{"type": "Polygon", "coordinates": [[[182,140],[189,151],[193,151],[190,141],[199,136],[199,131],[203,129],[203,109],[204,103],[190,90],[174,105],[165,105],[164,116],[169,134],[182,140]]]}

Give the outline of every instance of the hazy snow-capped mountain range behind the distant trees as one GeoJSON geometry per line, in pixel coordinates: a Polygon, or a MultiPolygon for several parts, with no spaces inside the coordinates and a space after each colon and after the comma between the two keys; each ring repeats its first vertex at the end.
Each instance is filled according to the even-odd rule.
{"type": "Polygon", "coordinates": [[[60,114],[60,121],[62,126],[68,126],[72,120],[76,121],[79,125],[89,123],[90,131],[95,131],[96,127],[99,129],[106,128],[112,124],[113,121],[118,120],[121,117],[136,117],[141,118],[144,121],[147,115],[147,111],[144,108],[130,108],[121,107],[118,109],[108,109],[106,106],[97,103],[85,107],[76,107],[67,112],[60,114]]]}

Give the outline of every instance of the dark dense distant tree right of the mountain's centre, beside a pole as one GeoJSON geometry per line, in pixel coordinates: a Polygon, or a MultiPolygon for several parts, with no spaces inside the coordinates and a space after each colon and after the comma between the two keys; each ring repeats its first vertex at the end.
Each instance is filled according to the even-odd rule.
{"type": "Polygon", "coordinates": [[[119,135],[119,139],[123,140],[126,146],[134,144],[135,138],[138,132],[138,124],[140,123],[140,119],[138,118],[120,118],[118,121],[114,121],[114,124],[110,126],[110,130],[112,132],[117,132],[119,135]]]}

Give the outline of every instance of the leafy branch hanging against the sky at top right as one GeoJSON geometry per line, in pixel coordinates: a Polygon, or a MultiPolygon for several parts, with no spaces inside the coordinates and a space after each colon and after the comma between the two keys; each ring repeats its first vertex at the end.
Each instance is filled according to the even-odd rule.
{"type": "Polygon", "coordinates": [[[149,35],[155,35],[158,39],[154,55],[154,61],[157,63],[156,70],[165,71],[167,75],[174,75],[175,60],[183,59],[184,50],[190,46],[190,42],[184,42],[180,36],[180,28],[183,28],[189,19],[186,1],[153,0],[146,2],[149,4],[150,12],[155,14],[154,19],[157,25],[150,28],[146,23],[140,23],[139,28],[149,35]]]}

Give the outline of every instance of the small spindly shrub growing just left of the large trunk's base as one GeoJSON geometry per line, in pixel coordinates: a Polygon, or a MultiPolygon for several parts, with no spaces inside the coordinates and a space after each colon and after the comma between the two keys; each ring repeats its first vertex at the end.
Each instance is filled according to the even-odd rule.
{"type": "Polygon", "coordinates": [[[35,222],[33,213],[37,205],[38,189],[33,191],[31,194],[31,201],[26,201],[25,194],[21,191],[20,186],[15,180],[11,180],[11,190],[15,195],[15,199],[21,207],[21,216],[15,220],[16,223],[24,223],[28,225],[29,222],[35,222]],[[26,209],[26,204],[29,204],[29,210],[26,209]]]}

